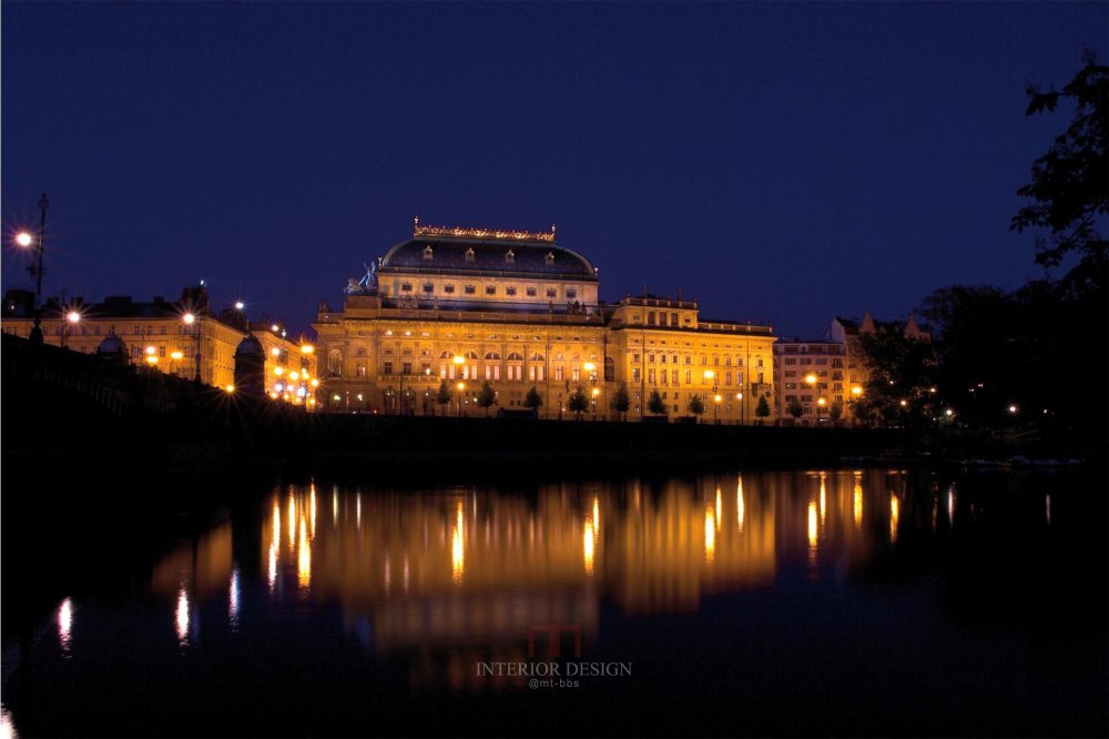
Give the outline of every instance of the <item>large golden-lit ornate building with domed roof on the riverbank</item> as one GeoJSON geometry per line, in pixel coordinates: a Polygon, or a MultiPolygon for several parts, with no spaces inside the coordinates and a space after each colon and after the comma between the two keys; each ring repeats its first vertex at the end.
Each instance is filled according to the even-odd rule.
{"type": "Polygon", "coordinates": [[[668,415],[694,395],[706,418],[753,423],[772,398],[770,326],[700,317],[695,301],[653,295],[600,300],[599,270],[543,233],[423,226],[349,280],[343,308],[316,323],[334,412],[468,413],[488,382],[502,408],[531,387],[543,417],[561,417],[581,391],[613,417],[622,384],[629,419],[658,391],[668,415]],[[440,383],[450,405],[435,403],[440,383]],[[461,401],[461,406],[459,406],[461,401]],[[449,411],[448,411],[449,409],[449,411]]]}

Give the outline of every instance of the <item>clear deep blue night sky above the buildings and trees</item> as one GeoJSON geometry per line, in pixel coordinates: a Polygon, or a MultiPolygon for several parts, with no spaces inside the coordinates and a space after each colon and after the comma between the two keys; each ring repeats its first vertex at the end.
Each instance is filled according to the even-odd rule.
{"type": "Polygon", "coordinates": [[[307,327],[411,232],[541,231],[604,300],[818,335],[1041,272],[1015,191],[1109,3],[29,3],[2,12],[3,286],[204,279],[307,327]]]}

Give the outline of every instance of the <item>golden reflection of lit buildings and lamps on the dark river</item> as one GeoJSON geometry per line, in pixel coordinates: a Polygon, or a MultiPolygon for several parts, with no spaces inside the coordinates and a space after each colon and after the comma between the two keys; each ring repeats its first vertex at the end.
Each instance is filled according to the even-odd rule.
{"type": "MultiPolygon", "coordinates": [[[[423,660],[425,677],[470,685],[475,659],[526,659],[529,626],[577,625],[589,645],[602,597],[631,616],[692,611],[712,594],[772,587],[784,569],[849,570],[896,541],[907,500],[905,477],[882,470],[527,494],[336,487],[318,526],[316,497],[315,485],[275,492],[261,526],[235,533],[248,541],[237,549],[242,567],[230,522],[155,567],[151,587],[175,601],[182,647],[197,646],[200,607],[216,595],[227,598],[231,630],[248,629],[242,603],[257,584],[269,601],[338,604],[348,631],[373,650],[446,654],[449,664],[435,669],[423,660]]],[[[947,507],[952,520],[954,490],[947,507]]],[[[63,650],[69,608],[64,627],[59,611],[63,650]]]]}

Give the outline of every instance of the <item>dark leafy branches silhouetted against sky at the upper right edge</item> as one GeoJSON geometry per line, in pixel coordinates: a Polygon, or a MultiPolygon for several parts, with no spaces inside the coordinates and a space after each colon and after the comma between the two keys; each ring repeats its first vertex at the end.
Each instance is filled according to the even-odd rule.
{"type": "Polygon", "coordinates": [[[1065,282],[1105,285],[1109,242],[1096,227],[1109,213],[1109,67],[1098,64],[1092,52],[1082,61],[1085,67],[1061,92],[1042,92],[1034,84],[1026,90],[1026,115],[1054,112],[1061,99],[1072,101],[1076,113],[1048,152],[1032,162],[1032,181],[1017,194],[1034,202],[1017,212],[1010,229],[1048,229],[1050,239],[1038,241],[1036,262],[1057,266],[1074,254],[1079,263],[1065,282]]]}

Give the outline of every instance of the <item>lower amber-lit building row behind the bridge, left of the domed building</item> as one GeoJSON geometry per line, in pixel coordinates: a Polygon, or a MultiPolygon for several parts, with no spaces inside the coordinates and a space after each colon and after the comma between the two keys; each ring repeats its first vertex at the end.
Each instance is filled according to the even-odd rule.
{"type": "MultiPolygon", "coordinates": [[[[8,291],[3,301],[3,331],[29,336],[33,303],[34,294],[29,291],[8,291]]],[[[295,372],[292,394],[285,399],[307,403],[314,399],[312,382],[316,379],[318,384],[311,345],[287,340],[279,325],[276,328],[268,324],[247,325],[241,308],[213,312],[203,285],[184,288],[177,301],[155,296],[151,302],[139,302],[130,295],[109,296],[102,303],[47,298],[42,307],[42,333],[47,344],[88,354],[95,353],[101,342],[113,334],[126,347],[131,364],[184,379],[195,378],[199,367],[201,382],[218,387],[234,386],[235,350],[251,333],[267,353],[267,388],[274,388],[278,376],[288,377],[295,372]],[[303,352],[305,346],[309,346],[308,353],[303,352]],[[307,391],[297,395],[302,386],[307,391]]],[[[286,379],[285,385],[288,384],[286,379]]]]}

